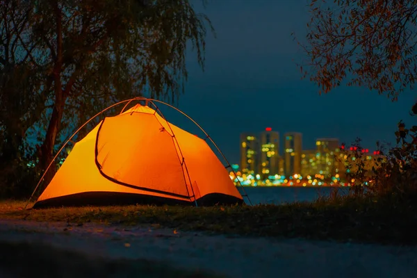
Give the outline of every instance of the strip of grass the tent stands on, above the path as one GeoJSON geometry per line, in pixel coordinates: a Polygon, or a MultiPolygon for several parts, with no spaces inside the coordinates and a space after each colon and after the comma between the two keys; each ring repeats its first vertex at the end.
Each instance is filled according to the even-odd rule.
{"type": "Polygon", "coordinates": [[[153,224],[214,234],[309,238],[395,245],[416,245],[415,200],[393,198],[318,200],[281,206],[106,206],[22,209],[22,202],[1,202],[0,219],[99,222],[124,226],[153,224]]]}

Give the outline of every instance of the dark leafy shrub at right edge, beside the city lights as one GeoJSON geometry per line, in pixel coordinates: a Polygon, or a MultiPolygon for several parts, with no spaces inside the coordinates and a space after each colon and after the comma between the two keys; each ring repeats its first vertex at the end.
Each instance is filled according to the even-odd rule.
{"type": "Polygon", "coordinates": [[[360,140],[352,144],[353,151],[345,150],[347,180],[357,197],[395,195],[400,199],[417,199],[417,126],[406,129],[402,122],[398,126],[397,145],[389,149],[378,142],[378,154],[373,155],[372,161],[368,160],[370,154],[364,152],[360,140]]]}

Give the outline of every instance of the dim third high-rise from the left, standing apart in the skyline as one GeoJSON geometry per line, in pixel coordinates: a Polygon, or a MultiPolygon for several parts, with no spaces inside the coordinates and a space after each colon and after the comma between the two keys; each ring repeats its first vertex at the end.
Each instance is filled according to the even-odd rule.
{"type": "Polygon", "coordinates": [[[301,173],[302,133],[284,134],[285,175],[301,173]]]}

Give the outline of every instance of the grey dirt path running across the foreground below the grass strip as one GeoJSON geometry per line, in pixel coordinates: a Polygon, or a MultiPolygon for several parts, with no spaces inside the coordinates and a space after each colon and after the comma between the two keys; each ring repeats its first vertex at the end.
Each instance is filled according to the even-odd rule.
{"type": "Polygon", "coordinates": [[[0,241],[23,240],[107,259],[149,259],[191,270],[214,270],[227,277],[417,277],[417,247],[0,220],[0,241]]]}

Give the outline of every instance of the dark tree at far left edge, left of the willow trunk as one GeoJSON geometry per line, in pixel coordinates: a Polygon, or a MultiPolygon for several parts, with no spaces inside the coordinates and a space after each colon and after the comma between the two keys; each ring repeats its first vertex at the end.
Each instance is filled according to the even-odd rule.
{"type": "MultiPolygon", "coordinates": [[[[42,68],[33,64],[40,40],[29,35],[31,5],[26,2],[0,1],[0,183],[16,184],[25,177],[26,131],[42,117],[49,95],[42,68]]],[[[0,195],[4,190],[3,184],[0,195]]]]}

